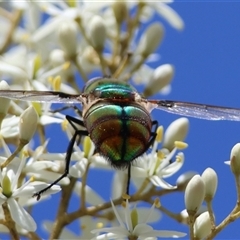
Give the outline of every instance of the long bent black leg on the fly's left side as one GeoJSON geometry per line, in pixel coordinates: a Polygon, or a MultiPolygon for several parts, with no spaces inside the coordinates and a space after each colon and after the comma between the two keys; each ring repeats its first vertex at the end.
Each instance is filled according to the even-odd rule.
{"type": "Polygon", "coordinates": [[[66,158],[65,158],[65,170],[64,173],[58,178],[56,179],[53,183],[51,183],[49,186],[47,186],[46,188],[42,189],[41,191],[34,193],[33,197],[37,197],[37,200],[39,200],[41,198],[41,194],[46,192],[48,189],[50,189],[53,185],[57,184],[60,180],[62,180],[64,177],[66,177],[69,173],[69,165],[70,165],[70,161],[71,161],[71,155],[73,152],[73,147],[74,147],[74,143],[76,141],[77,136],[87,136],[88,132],[86,130],[79,130],[77,129],[76,125],[82,126],[84,127],[83,121],[76,119],[74,117],[71,116],[66,116],[66,119],[68,120],[68,122],[71,124],[71,126],[74,128],[75,132],[73,134],[72,139],[70,140],[68,147],[67,147],[67,152],[66,152],[66,158]]]}

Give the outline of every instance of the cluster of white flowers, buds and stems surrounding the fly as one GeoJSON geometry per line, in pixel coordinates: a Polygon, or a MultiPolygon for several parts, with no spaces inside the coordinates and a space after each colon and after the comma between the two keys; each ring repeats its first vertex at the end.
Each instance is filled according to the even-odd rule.
{"type": "MultiPolygon", "coordinates": [[[[184,237],[186,234],[182,232],[153,229],[150,224],[160,220],[160,211],[178,222],[187,222],[192,238],[205,238],[215,228],[211,201],[217,176],[212,169],[207,169],[201,177],[193,172],[185,173],[176,184],[171,184],[171,179],[166,181],[184,164],[182,150],[187,147],[184,141],[189,127],[186,118],[173,121],[166,131],[163,126],[158,127],[156,137],[147,146],[149,149],[132,161],[128,169],[116,170],[86,136],[83,117],[86,109],[72,106],[79,98],[53,93],[81,94],[84,98],[82,85],[100,75],[141,85],[142,99],[156,93],[167,94],[171,90],[173,65],[161,64],[154,69],[150,63],[158,62],[158,47],[165,34],[163,24],[153,21],[153,16],[161,16],[176,30],[184,27],[170,2],[0,3],[1,233],[13,239],[38,239],[42,238],[39,229],[44,226],[50,239],[184,237]],[[29,90],[32,92],[25,92],[29,90]],[[39,91],[45,92],[41,95],[39,91]],[[21,101],[26,96],[31,101],[21,101]],[[52,103],[71,105],[56,109],[52,103]],[[65,111],[76,118],[67,121],[65,111]],[[58,128],[55,142],[47,137],[51,127],[58,128]],[[60,147],[64,138],[69,140],[67,151],[60,147]],[[50,150],[51,144],[58,147],[56,152],[50,150]],[[109,172],[113,175],[112,182],[106,177],[112,184],[108,199],[113,200],[106,201],[102,195],[104,185],[93,175],[99,169],[101,179],[105,173],[109,178],[109,172]],[[90,187],[92,180],[97,183],[96,188],[90,187]],[[186,210],[178,216],[156,200],[176,191],[185,191],[186,210]],[[54,202],[58,207],[54,222],[46,219],[35,222],[32,210],[39,203],[37,200],[48,199],[57,192],[61,199],[59,205],[54,202]],[[124,195],[122,199],[126,192],[130,196],[124,195]],[[71,201],[76,198],[72,210],[71,201]],[[207,211],[201,212],[204,200],[207,211]],[[140,206],[136,207],[136,203],[140,206]],[[123,208],[119,209],[121,204],[123,208]],[[79,221],[80,231],[71,232],[66,226],[75,220],[79,221]]],[[[94,99],[93,104],[98,100],[94,99]]],[[[87,109],[93,104],[87,105],[87,109]]],[[[123,134],[123,138],[127,137],[123,134]]],[[[235,150],[231,169],[237,178],[239,154],[235,150]]]]}

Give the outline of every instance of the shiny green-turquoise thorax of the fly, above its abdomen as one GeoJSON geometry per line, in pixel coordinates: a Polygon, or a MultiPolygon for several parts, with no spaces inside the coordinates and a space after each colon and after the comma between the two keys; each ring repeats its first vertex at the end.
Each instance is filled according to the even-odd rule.
{"type": "Polygon", "coordinates": [[[98,98],[133,101],[136,90],[129,84],[112,78],[99,78],[89,81],[83,92],[98,98]]]}

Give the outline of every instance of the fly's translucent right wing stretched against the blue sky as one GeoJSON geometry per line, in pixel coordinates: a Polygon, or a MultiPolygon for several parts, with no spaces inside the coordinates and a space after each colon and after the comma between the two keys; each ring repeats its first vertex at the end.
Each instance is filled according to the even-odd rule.
{"type": "Polygon", "coordinates": [[[240,121],[240,109],[189,102],[148,100],[151,108],[206,120],[240,121]]]}

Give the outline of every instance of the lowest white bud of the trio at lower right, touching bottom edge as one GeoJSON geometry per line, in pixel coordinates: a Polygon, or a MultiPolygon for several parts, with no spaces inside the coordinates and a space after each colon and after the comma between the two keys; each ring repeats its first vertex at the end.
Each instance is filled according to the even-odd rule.
{"type": "Polygon", "coordinates": [[[194,236],[197,239],[205,239],[211,233],[211,221],[208,212],[202,213],[194,223],[194,236]]]}

